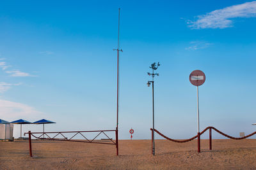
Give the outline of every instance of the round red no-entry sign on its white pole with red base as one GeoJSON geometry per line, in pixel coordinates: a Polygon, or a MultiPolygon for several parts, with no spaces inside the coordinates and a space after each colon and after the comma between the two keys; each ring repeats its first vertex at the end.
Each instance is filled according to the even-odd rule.
{"type": "Polygon", "coordinates": [[[197,152],[200,152],[200,129],[199,129],[199,102],[198,102],[198,86],[204,84],[205,74],[203,71],[194,70],[189,75],[189,81],[196,86],[197,96],[197,152]]]}

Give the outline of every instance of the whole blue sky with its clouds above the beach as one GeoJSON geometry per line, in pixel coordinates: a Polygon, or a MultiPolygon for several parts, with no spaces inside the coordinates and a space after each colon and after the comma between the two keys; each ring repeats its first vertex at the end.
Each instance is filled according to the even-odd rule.
{"type": "Polygon", "coordinates": [[[195,69],[206,75],[200,130],[255,131],[256,1],[1,2],[0,118],[57,122],[45,131],[115,129],[119,7],[121,139],[131,127],[134,139],[150,138],[153,62],[161,63],[155,113],[163,134],[196,134],[195,69]]]}

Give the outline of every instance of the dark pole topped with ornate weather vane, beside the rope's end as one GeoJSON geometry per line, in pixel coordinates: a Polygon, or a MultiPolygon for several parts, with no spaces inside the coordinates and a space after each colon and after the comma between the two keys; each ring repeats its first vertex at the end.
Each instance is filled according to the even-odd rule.
{"type": "Polygon", "coordinates": [[[156,70],[160,66],[159,62],[156,66],[156,62],[151,64],[152,73],[148,73],[149,76],[152,76],[152,81],[148,81],[147,85],[150,87],[150,84],[152,83],[152,112],[153,112],[153,131],[152,131],[152,154],[155,155],[155,107],[154,107],[154,76],[159,76],[158,73],[154,73],[154,70],[156,70]]]}

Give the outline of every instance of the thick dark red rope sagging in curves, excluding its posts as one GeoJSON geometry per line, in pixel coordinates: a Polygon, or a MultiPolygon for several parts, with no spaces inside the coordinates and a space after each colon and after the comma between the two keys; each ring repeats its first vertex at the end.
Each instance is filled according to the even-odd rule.
{"type": "MultiPolygon", "coordinates": [[[[206,128],[204,129],[204,131],[200,132],[200,136],[201,136],[202,134],[204,134],[204,132],[207,131],[208,129],[214,129],[214,131],[220,133],[221,135],[223,135],[223,136],[225,136],[225,137],[227,137],[227,138],[230,138],[230,139],[235,139],[235,140],[240,140],[240,139],[249,138],[250,136],[253,136],[254,134],[256,134],[256,132],[253,132],[252,134],[248,134],[247,136],[244,136],[244,137],[241,137],[241,138],[235,138],[235,137],[229,136],[229,135],[227,135],[227,134],[225,134],[225,133],[219,131],[219,130],[216,129],[215,127],[209,126],[209,127],[206,127],[206,128]]],[[[152,128],[151,128],[150,130],[153,131],[152,128]]],[[[192,141],[193,139],[195,139],[195,138],[198,137],[198,135],[196,135],[196,136],[194,136],[194,137],[192,137],[192,138],[185,139],[185,140],[175,140],[175,139],[168,138],[167,136],[164,136],[164,134],[162,134],[161,132],[157,131],[156,129],[155,129],[154,131],[157,132],[157,134],[159,134],[159,135],[162,136],[163,138],[168,139],[168,140],[173,141],[173,142],[177,142],[177,143],[185,143],[185,142],[188,142],[188,141],[192,141]]]]}

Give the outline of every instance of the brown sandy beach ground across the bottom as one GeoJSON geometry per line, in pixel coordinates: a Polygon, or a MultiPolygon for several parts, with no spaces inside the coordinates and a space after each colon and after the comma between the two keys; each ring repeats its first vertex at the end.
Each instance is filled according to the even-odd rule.
{"type": "Polygon", "coordinates": [[[28,141],[0,142],[0,169],[256,169],[256,139],[196,140],[173,143],[156,140],[151,155],[150,140],[120,140],[115,145],[67,141],[33,141],[29,157],[28,141]]]}

